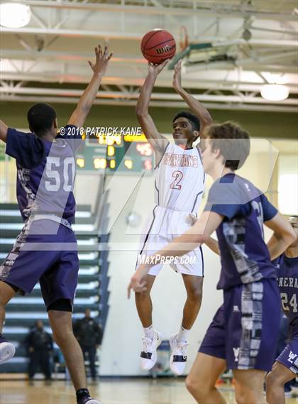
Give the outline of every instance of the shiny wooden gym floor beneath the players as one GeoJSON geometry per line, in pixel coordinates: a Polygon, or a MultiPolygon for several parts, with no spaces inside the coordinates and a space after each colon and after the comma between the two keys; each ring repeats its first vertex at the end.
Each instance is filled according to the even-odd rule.
{"type": "MultiPolygon", "coordinates": [[[[0,375],[1,378],[1,375],[0,375]]],[[[112,378],[90,385],[101,404],[194,404],[183,380],[112,378]]],[[[224,385],[221,392],[228,404],[234,404],[233,387],[224,385]]],[[[73,388],[64,381],[0,381],[1,404],[75,404],[73,388]]],[[[265,400],[264,400],[265,403],[265,400]]],[[[297,404],[298,398],[287,398],[297,404]]]]}

